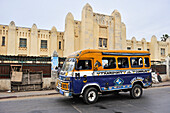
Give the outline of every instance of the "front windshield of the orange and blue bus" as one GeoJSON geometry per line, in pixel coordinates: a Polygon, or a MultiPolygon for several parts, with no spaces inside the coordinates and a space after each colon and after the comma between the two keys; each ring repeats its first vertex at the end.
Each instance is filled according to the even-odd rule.
{"type": "Polygon", "coordinates": [[[67,71],[67,72],[72,71],[74,69],[75,62],[76,62],[76,59],[74,58],[66,59],[62,67],[62,71],[67,71]]]}

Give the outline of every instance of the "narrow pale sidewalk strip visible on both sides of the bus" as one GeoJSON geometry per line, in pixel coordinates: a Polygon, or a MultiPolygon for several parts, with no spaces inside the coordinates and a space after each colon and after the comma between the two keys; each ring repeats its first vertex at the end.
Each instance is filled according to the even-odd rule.
{"type": "MultiPolygon", "coordinates": [[[[164,87],[164,86],[170,86],[170,81],[161,82],[158,84],[152,84],[152,87],[164,87]]],[[[56,95],[56,94],[58,94],[58,92],[55,90],[0,92],[0,100],[7,99],[7,98],[32,97],[32,96],[56,95]]]]}

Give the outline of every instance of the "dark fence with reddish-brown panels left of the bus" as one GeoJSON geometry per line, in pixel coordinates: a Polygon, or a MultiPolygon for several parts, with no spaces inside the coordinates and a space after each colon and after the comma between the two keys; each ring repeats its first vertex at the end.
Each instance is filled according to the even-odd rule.
{"type": "Polygon", "coordinates": [[[0,55],[0,79],[10,78],[11,65],[21,65],[23,71],[42,71],[43,77],[51,77],[51,57],[0,55]]]}

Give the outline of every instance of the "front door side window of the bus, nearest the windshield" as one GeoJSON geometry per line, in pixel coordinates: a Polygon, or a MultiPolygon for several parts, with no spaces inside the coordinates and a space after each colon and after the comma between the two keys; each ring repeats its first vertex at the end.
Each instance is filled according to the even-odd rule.
{"type": "Polygon", "coordinates": [[[79,60],[77,67],[79,70],[92,69],[91,60],[79,60]]]}

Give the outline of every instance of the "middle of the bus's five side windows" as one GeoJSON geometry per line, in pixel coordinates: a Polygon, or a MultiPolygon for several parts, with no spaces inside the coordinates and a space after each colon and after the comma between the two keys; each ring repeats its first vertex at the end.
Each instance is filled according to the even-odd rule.
{"type": "Polygon", "coordinates": [[[119,68],[129,68],[128,58],[118,58],[119,68]]]}

